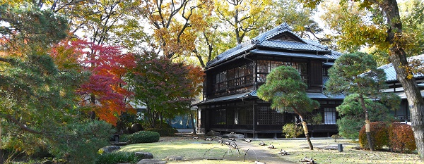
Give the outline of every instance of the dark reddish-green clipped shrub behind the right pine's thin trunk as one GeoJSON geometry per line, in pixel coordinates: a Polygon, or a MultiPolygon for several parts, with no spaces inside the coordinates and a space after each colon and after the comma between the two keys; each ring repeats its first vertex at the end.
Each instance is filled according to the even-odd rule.
{"type": "MultiPolygon", "coordinates": [[[[387,132],[389,125],[386,122],[371,122],[371,139],[374,149],[382,149],[383,146],[389,146],[389,134],[387,132]]],[[[359,131],[359,144],[365,149],[368,147],[367,134],[365,133],[365,125],[359,131]]]]}

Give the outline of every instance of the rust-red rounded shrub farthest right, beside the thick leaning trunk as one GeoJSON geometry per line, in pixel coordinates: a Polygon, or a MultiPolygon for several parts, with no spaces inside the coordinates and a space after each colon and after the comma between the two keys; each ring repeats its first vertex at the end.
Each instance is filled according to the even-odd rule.
{"type": "Polygon", "coordinates": [[[391,148],[401,153],[415,151],[417,148],[411,125],[393,122],[389,127],[389,139],[391,148]]]}

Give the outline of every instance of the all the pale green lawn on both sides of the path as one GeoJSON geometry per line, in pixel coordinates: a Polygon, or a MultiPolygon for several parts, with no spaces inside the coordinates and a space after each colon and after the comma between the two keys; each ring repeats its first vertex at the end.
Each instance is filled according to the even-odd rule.
{"type": "MultiPolygon", "coordinates": [[[[162,140],[162,139],[161,139],[162,140]]],[[[168,139],[169,140],[169,139],[168,139]]],[[[284,160],[292,161],[293,163],[301,163],[299,160],[307,156],[314,158],[317,163],[424,163],[419,160],[416,153],[391,153],[385,151],[364,151],[352,149],[359,144],[351,142],[351,140],[338,139],[312,139],[314,150],[310,151],[305,139],[261,139],[266,144],[273,144],[277,149],[267,149],[266,146],[259,146],[259,141],[253,141],[251,144],[257,146],[257,149],[265,149],[270,153],[277,154],[281,149],[288,151],[290,155],[279,156],[284,160]],[[337,144],[343,144],[343,152],[338,150],[321,149],[326,146],[337,148],[337,144]]],[[[228,153],[228,146],[220,146],[216,141],[204,141],[201,139],[184,139],[182,137],[172,138],[170,141],[160,141],[148,144],[131,144],[123,146],[122,151],[144,151],[151,152],[155,159],[163,160],[166,156],[183,156],[184,161],[168,161],[168,163],[235,163],[245,164],[252,161],[242,162],[242,155],[235,153],[232,149],[233,156],[225,156],[226,160],[202,160],[206,151],[206,156],[216,156],[222,158],[225,152],[228,153]],[[212,149],[213,148],[213,149],[212,149]]],[[[243,148],[241,148],[243,149],[243,148]]],[[[245,151],[245,150],[244,150],[245,151]]]]}

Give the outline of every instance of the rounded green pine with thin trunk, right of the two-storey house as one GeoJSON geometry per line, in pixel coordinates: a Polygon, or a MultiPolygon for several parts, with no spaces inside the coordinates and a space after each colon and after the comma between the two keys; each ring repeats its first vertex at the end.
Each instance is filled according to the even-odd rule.
{"type": "Polygon", "coordinates": [[[370,131],[370,111],[366,99],[377,98],[387,86],[386,73],[377,69],[377,62],[368,53],[343,54],[329,70],[330,79],[326,83],[326,91],[331,94],[358,94],[355,96],[363,109],[365,132],[371,151],[374,151],[370,131]]]}

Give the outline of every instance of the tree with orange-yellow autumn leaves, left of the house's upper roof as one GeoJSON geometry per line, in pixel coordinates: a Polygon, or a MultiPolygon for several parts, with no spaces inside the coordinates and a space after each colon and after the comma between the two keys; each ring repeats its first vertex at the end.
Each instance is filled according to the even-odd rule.
{"type": "MultiPolygon", "coordinates": [[[[211,1],[142,1],[138,13],[147,21],[147,28],[153,30],[155,46],[167,58],[175,58],[194,51],[197,31],[204,27],[205,13],[199,8],[211,8],[211,1]]],[[[210,11],[206,9],[205,11],[210,11]]]]}

